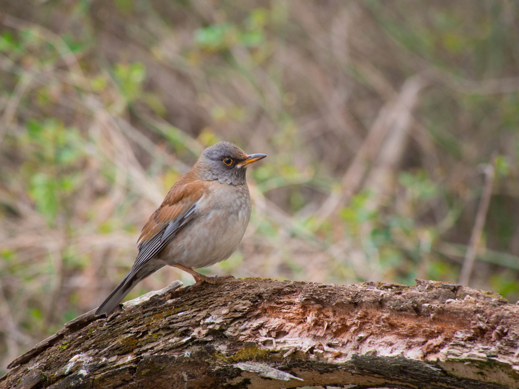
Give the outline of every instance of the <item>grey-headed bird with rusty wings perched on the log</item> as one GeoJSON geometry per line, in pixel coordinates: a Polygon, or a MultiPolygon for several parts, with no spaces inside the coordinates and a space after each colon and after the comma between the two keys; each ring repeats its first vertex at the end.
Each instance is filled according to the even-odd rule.
{"type": "Polygon", "coordinates": [[[246,154],[229,142],[206,148],[149,217],[133,266],[95,316],[115,311],[136,284],[166,265],[188,272],[196,283],[215,284],[218,277],[193,268],[223,261],[238,247],[251,215],[246,168],[265,157],[246,154]]]}

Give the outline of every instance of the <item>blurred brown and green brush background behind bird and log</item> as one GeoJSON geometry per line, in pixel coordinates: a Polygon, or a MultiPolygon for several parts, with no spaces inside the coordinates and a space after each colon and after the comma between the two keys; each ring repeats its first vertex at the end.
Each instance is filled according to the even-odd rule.
{"type": "Polygon", "coordinates": [[[0,374],[104,300],[221,140],[268,158],[204,274],[519,298],[519,3],[23,3],[0,0],[0,374]]]}

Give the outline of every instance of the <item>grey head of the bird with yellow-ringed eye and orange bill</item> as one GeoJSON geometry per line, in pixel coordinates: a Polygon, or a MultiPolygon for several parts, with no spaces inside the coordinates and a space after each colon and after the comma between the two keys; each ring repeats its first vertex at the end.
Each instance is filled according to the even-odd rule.
{"type": "Polygon", "coordinates": [[[203,150],[195,166],[197,175],[206,181],[217,180],[222,184],[245,184],[245,168],[249,163],[265,158],[265,154],[245,154],[229,142],[218,142],[203,150]]]}

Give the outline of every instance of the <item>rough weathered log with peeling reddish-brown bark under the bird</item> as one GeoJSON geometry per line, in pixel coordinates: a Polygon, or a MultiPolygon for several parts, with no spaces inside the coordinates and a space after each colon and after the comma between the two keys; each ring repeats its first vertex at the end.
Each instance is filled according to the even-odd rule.
{"type": "Polygon", "coordinates": [[[0,387],[519,387],[519,307],[491,292],[420,280],[180,285],[108,318],[79,316],[13,361],[0,387]]]}

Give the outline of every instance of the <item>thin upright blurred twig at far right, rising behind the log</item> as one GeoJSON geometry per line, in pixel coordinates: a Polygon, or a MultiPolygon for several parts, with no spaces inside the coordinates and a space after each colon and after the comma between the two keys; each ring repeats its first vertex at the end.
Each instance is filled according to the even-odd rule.
{"type": "MultiPolygon", "coordinates": [[[[495,163],[495,159],[494,162],[495,163]]],[[[485,183],[483,184],[483,193],[481,195],[480,204],[477,207],[476,219],[474,227],[472,228],[472,234],[470,236],[469,246],[467,248],[467,254],[461,267],[458,283],[461,285],[467,285],[470,280],[470,274],[474,267],[474,259],[476,257],[477,247],[481,241],[481,234],[485,225],[485,218],[488,211],[488,204],[490,203],[490,197],[492,195],[492,184],[494,184],[495,168],[493,164],[487,164],[484,167],[485,183]]]]}

